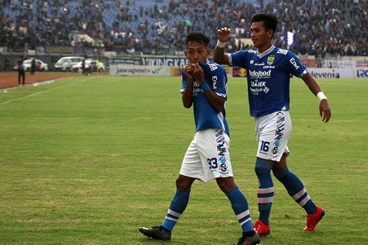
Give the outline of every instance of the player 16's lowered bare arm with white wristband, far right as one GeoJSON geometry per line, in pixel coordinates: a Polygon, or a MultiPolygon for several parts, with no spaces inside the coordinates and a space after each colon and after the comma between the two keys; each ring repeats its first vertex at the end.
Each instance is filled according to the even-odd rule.
{"type": "Polygon", "coordinates": [[[330,121],[331,117],[331,111],[330,106],[327,102],[327,97],[323,94],[321,87],[319,87],[319,84],[315,80],[315,78],[310,74],[306,73],[302,76],[303,81],[305,84],[307,84],[309,90],[317,97],[319,98],[319,115],[320,117],[323,116],[322,122],[327,123],[330,121]]]}

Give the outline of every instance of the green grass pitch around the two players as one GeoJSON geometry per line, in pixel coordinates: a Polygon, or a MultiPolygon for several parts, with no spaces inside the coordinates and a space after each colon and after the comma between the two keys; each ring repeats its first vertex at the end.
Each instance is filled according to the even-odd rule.
{"type": "MultiPolygon", "coordinates": [[[[263,245],[368,244],[368,80],[319,79],[332,118],[291,80],[289,169],[327,216],[305,212],[274,178],[263,245]]],[[[194,135],[180,77],[76,77],[0,91],[0,244],[236,244],[240,226],[215,181],[196,181],[171,242],[160,225],[194,135]]],[[[256,141],[245,78],[229,78],[227,121],[237,185],[258,219],[256,141]]]]}

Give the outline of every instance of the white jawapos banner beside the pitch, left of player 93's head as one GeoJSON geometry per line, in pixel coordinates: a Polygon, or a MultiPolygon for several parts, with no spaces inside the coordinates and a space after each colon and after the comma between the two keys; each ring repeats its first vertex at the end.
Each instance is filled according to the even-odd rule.
{"type": "Polygon", "coordinates": [[[170,76],[169,66],[111,65],[112,76],[170,76]]]}

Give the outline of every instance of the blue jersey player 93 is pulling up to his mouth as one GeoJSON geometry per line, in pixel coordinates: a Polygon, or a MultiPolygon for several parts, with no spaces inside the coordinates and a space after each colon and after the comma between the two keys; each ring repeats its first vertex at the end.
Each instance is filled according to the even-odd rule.
{"type": "MultiPolygon", "coordinates": [[[[220,97],[225,97],[225,105],[227,100],[227,76],[225,69],[213,62],[199,63],[205,73],[205,81],[210,88],[220,97]]],[[[182,68],[182,88],[184,92],[187,78],[182,68]]],[[[229,127],[225,120],[225,105],[221,111],[216,111],[207,100],[199,83],[193,78],[193,112],[196,131],[204,128],[222,128],[230,136],[229,127]]]]}

